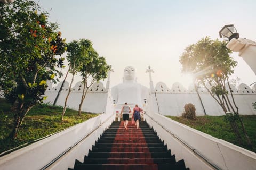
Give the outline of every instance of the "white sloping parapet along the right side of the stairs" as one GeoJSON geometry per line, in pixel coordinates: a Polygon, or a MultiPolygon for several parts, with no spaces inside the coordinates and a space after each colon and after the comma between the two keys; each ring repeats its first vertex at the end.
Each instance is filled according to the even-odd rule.
{"type": "MultiPolygon", "coordinates": [[[[154,95],[154,94],[152,94],[154,95]]],[[[152,97],[152,96],[151,96],[152,97]]],[[[150,107],[151,97],[147,106],[145,119],[151,128],[164,141],[177,161],[184,159],[186,167],[195,169],[214,169],[195,152],[199,152],[209,162],[225,170],[253,170],[256,167],[256,154],[229,142],[214,138],[179,122],[157,114],[150,107]],[[188,143],[189,147],[181,141],[188,143]],[[192,149],[189,149],[192,148],[192,149]],[[194,150],[194,151],[193,151],[194,150]]],[[[152,97],[154,98],[154,96],[152,97]]]]}

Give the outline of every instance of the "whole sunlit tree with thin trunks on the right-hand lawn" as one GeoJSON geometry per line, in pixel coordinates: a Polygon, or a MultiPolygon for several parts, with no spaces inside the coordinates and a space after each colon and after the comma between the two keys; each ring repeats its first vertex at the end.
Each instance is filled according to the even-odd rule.
{"type": "Polygon", "coordinates": [[[195,75],[196,83],[207,89],[223,109],[226,120],[230,123],[237,140],[242,142],[242,131],[247,145],[252,147],[230,88],[229,77],[234,73],[233,69],[237,62],[230,57],[231,50],[226,45],[225,41],[210,40],[209,37],[206,37],[196,44],[188,46],[180,56],[182,72],[190,72],[195,75]]]}

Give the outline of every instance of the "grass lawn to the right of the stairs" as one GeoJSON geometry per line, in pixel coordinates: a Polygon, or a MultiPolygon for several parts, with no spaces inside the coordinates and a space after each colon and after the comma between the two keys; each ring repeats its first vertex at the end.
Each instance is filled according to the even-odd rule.
{"type": "Polygon", "coordinates": [[[254,149],[250,149],[246,146],[246,141],[243,141],[243,145],[239,145],[235,138],[235,134],[231,130],[228,123],[224,121],[224,116],[197,116],[196,120],[189,120],[182,117],[166,116],[190,126],[196,130],[202,131],[204,133],[210,134],[215,138],[219,138],[245,149],[256,152],[256,115],[241,115],[244,122],[245,129],[252,141],[254,149]]]}

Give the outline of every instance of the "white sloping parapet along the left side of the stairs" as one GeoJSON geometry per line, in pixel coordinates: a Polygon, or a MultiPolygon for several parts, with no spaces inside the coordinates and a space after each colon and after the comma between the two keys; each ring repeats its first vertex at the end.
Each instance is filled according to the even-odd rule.
{"type": "Polygon", "coordinates": [[[107,107],[105,114],[91,118],[83,123],[77,124],[67,130],[54,134],[51,137],[35,142],[27,147],[11,152],[0,159],[1,170],[16,169],[42,169],[54,158],[70,149],[77,141],[81,143],[72,148],[57,162],[47,169],[73,168],[75,160],[83,162],[84,155],[92,149],[95,141],[115,120],[113,104],[110,95],[105,101],[107,107]]]}

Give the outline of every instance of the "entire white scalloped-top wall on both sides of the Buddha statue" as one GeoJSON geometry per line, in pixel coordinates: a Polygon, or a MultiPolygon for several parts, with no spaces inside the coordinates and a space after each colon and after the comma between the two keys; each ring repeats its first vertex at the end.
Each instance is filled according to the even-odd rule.
{"type": "MultiPolygon", "coordinates": [[[[47,82],[49,87],[45,92],[47,99],[44,103],[53,104],[62,82],[57,87],[53,88],[51,82],[47,82]]],[[[58,97],[56,105],[64,106],[65,99],[68,93],[69,84],[65,82],[62,87],[62,91],[58,97]]],[[[81,102],[83,84],[78,82],[73,88],[68,98],[67,107],[78,110],[78,105],[81,102]]],[[[233,90],[234,99],[236,105],[239,108],[239,114],[241,115],[256,115],[256,111],[253,109],[252,103],[256,102],[256,84],[251,89],[246,84],[240,84],[239,89],[236,89],[231,85],[233,90]]],[[[82,111],[91,113],[103,113],[106,108],[106,100],[108,92],[110,90],[103,86],[102,82],[96,82],[89,89],[83,106],[82,111]]],[[[154,95],[151,97],[153,109],[155,113],[161,115],[181,116],[184,112],[185,104],[192,103],[196,108],[196,115],[203,116],[220,116],[224,115],[222,108],[218,105],[212,96],[205,89],[198,89],[198,94],[201,97],[202,103],[199,100],[198,94],[193,86],[185,89],[182,84],[176,82],[169,89],[165,83],[158,82],[156,84],[154,95]],[[203,106],[205,109],[203,109],[203,106]]],[[[230,95],[229,95],[230,97],[230,95]]],[[[231,100],[231,97],[230,97],[231,100]]]]}

